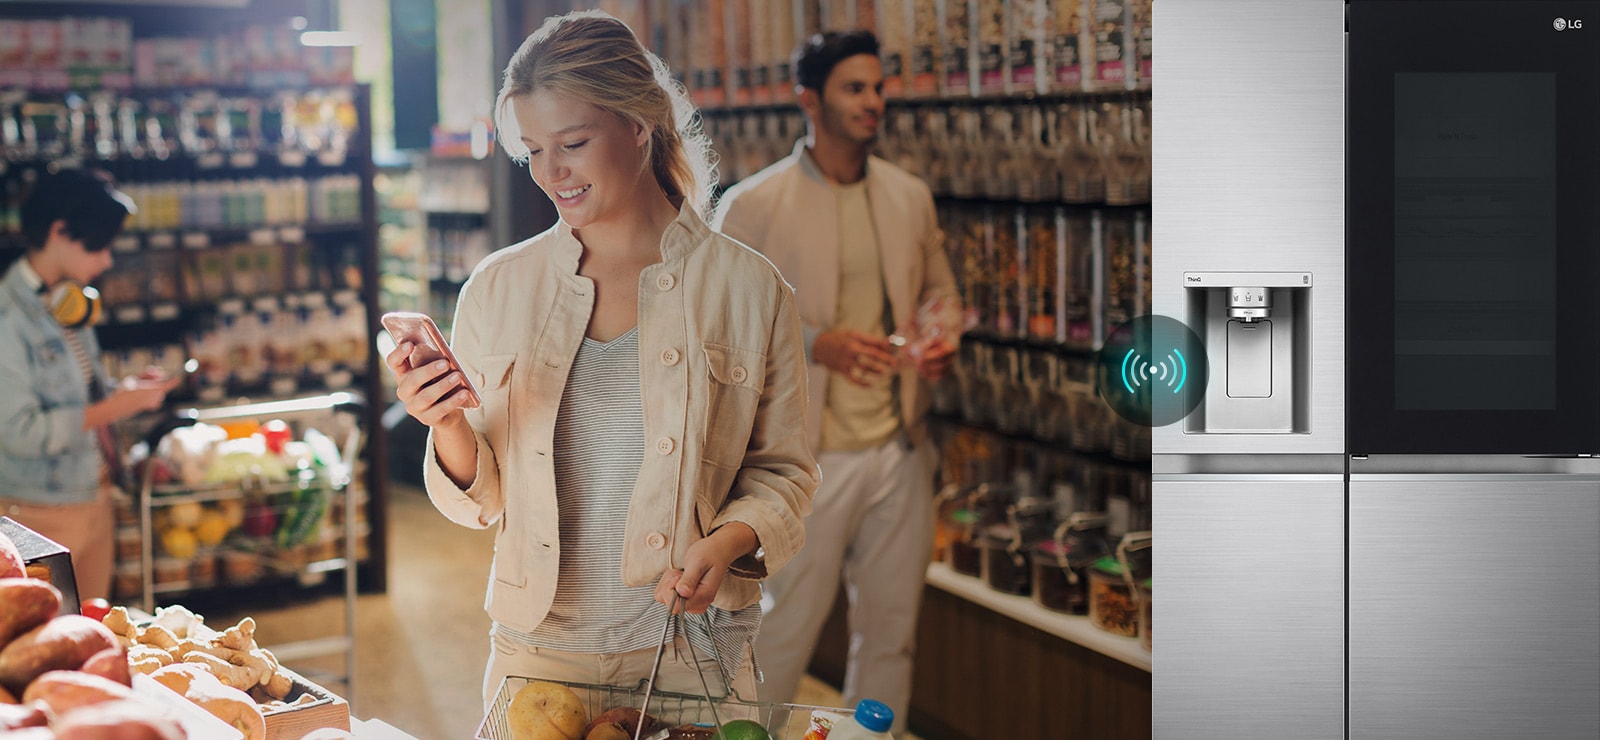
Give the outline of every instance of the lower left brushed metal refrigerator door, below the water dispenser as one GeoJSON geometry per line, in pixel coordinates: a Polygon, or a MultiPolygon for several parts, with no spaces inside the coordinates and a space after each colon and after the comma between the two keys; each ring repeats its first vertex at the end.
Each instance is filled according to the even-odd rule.
{"type": "Polygon", "coordinates": [[[1344,482],[1157,481],[1152,730],[1344,737],[1344,482]]]}

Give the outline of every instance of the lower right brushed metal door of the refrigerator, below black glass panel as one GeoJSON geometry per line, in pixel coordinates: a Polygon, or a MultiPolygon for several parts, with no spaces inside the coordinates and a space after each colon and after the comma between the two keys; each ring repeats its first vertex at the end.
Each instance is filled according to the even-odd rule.
{"type": "Polygon", "coordinates": [[[1600,737],[1600,484],[1350,484],[1350,738],[1600,737]]]}

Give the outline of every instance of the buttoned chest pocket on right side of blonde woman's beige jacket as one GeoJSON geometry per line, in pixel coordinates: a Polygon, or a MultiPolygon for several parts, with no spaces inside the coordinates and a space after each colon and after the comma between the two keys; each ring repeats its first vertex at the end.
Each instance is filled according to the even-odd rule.
{"type": "Polygon", "coordinates": [[[722,344],[706,352],[706,445],[701,458],[723,469],[739,469],[750,444],[755,410],[766,380],[766,356],[722,344]]]}

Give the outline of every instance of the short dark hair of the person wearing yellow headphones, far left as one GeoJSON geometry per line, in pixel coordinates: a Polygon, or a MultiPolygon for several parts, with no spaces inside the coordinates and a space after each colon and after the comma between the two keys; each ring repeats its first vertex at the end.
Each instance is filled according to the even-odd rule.
{"type": "Polygon", "coordinates": [[[101,251],[110,247],[134,211],[133,199],[112,186],[104,173],[42,171],[22,202],[22,239],[29,250],[42,250],[50,239],[50,226],[64,221],[67,235],[83,240],[88,251],[101,251]]]}

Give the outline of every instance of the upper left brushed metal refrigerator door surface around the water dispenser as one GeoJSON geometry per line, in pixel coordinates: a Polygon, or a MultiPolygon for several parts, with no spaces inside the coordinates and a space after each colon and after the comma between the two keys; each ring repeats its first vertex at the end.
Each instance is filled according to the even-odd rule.
{"type": "Polygon", "coordinates": [[[1154,450],[1342,453],[1344,3],[1162,0],[1155,21],[1155,312],[1186,319],[1184,272],[1310,272],[1314,287],[1309,432],[1168,424],[1154,450]]]}

